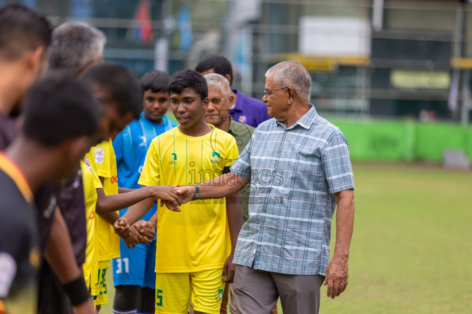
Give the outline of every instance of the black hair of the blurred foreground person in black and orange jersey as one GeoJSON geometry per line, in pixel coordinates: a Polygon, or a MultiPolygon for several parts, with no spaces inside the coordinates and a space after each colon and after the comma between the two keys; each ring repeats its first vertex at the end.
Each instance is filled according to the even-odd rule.
{"type": "Polygon", "coordinates": [[[46,146],[93,136],[101,116],[92,92],[59,72],[50,72],[33,84],[26,94],[23,113],[25,137],[46,146]]]}

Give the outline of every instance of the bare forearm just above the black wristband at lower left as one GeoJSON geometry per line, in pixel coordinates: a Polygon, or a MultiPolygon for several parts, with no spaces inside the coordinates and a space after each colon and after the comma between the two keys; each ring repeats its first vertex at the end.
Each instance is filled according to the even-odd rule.
{"type": "Polygon", "coordinates": [[[44,258],[48,261],[54,274],[59,278],[59,282],[65,284],[76,280],[82,273],[77,266],[69,230],[59,206],[56,206],[56,209],[54,209],[53,216],[51,233],[46,251],[44,252],[44,258]]]}

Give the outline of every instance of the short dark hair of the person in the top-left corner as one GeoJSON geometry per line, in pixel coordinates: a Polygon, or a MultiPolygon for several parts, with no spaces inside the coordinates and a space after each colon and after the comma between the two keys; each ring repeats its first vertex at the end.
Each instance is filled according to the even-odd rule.
{"type": "Polygon", "coordinates": [[[16,60],[25,52],[51,43],[48,20],[21,4],[0,7],[0,57],[16,60]]]}

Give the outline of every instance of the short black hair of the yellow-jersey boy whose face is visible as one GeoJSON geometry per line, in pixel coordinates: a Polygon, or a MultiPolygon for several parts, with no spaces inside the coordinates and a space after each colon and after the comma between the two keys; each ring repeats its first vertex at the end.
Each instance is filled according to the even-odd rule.
{"type": "Polygon", "coordinates": [[[182,89],[190,87],[202,100],[208,97],[208,85],[202,74],[195,70],[182,70],[175,72],[169,82],[169,92],[174,94],[182,93],[182,89]]]}

